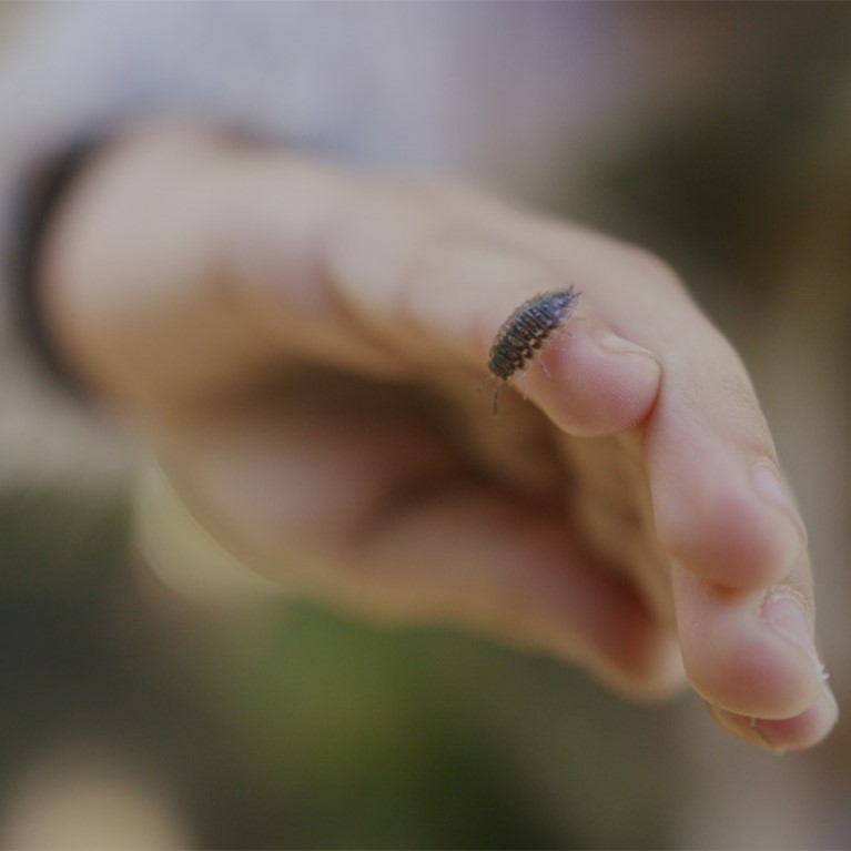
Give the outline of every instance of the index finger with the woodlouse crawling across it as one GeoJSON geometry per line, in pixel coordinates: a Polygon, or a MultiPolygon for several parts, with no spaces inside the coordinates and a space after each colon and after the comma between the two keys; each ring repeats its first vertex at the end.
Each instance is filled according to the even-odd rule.
{"type": "MultiPolygon", "coordinates": [[[[364,325],[421,371],[484,372],[497,332],[518,306],[571,286],[569,275],[527,252],[482,239],[472,226],[446,234],[419,211],[407,222],[392,213],[394,241],[408,247],[388,263],[369,236],[386,231],[379,216],[388,212],[340,237],[331,278],[364,325]]],[[[649,352],[612,334],[578,295],[576,311],[510,384],[564,430],[597,436],[641,422],[659,374],[649,352]]]]}

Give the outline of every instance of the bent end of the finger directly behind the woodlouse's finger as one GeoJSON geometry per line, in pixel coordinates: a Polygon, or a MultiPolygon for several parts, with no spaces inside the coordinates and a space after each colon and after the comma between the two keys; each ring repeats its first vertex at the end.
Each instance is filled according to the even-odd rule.
{"type": "Polygon", "coordinates": [[[801,557],[806,533],[756,396],[732,357],[705,364],[692,386],[682,371],[666,371],[645,444],[661,540],[711,581],[777,582],[801,557]]]}

